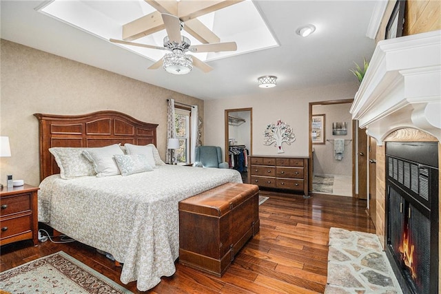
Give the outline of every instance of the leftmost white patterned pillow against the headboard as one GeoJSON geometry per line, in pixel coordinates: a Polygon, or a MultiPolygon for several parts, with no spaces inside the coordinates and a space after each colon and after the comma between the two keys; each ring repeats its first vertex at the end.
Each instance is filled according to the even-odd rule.
{"type": "Polygon", "coordinates": [[[60,168],[60,177],[68,180],[82,176],[95,176],[92,162],[87,160],[83,151],[87,148],[82,147],[52,147],[50,153],[54,156],[60,168]]]}

